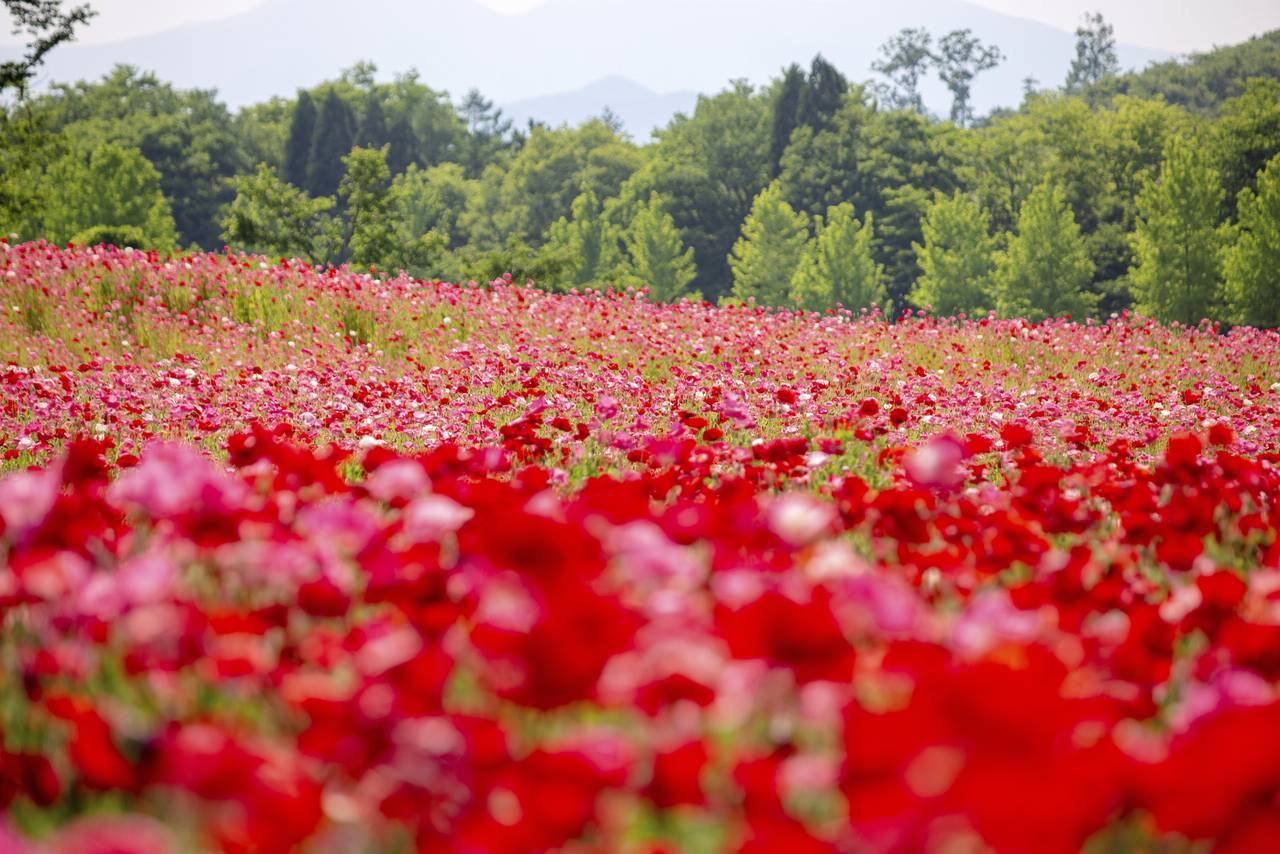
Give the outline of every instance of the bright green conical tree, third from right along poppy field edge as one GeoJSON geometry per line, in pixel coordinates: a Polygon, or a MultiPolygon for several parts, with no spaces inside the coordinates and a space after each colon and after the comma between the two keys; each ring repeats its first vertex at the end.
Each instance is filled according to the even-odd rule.
{"type": "Polygon", "coordinates": [[[1023,202],[1018,234],[998,264],[996,305],[1006,318],[1083,319],[1097,305],[1097,294],[1085,289],[1093,262],[1080,227],[1062,189],[1047,181],[1023,202]]]}

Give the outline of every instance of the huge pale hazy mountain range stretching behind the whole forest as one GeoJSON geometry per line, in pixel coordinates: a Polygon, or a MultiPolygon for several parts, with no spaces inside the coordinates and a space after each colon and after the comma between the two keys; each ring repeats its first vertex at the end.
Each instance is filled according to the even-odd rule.
{"type": "MultiPolygon", "coordinates": [[[[60,47],[42,79],[96,78],[131,63],[178,86],[216,88],[241,106],[371,59],[388,77],[415,67],[425,83],[454,96],[476,87],[520,106],[549,92],[577,97],[604,76],[654,92],[713,92],[733,78],[763,83],[817,52],[861,81],[870,77],[877,47],[902,27],[936,35],[968,27],[1004,50],[1004,65],[975,81],[979,111],[1018,104],[1027,77],[1057,85],[1074,54],[1071,33],[963,0],[548,0],[521,15],[475,0],[268,0],[218,22],[60,47]]],[[[1126,68],[1169,58],[1124,45],[1119,52],[1126,68]]],[[[0,56],[14,54],[0,49],[0,56]]],[[[946,109],[941,85],[931,81],[925,96],[934,110],[946,109]]],[[[544,106],[572,120],[562,99],[571,100],[544,106]]],[[[643,134],[639,125],[650,120],[635,119],[632,131],[643,134]]]]}

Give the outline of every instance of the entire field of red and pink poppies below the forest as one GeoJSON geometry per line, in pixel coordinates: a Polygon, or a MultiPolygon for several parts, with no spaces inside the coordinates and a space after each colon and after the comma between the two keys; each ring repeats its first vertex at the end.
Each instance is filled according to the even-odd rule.
{"type": "Polygon", "coordinates": [[[1280,334],[0,243],[0,850],[1265,851],[1280,334]]]}

